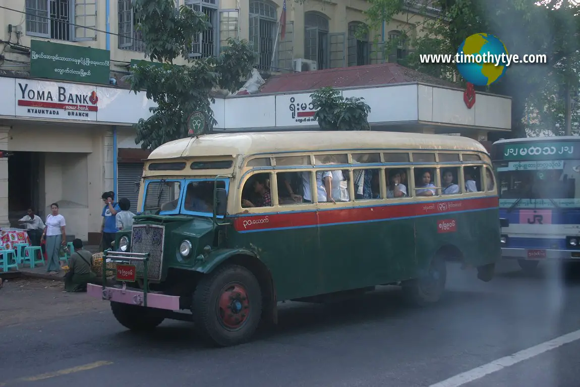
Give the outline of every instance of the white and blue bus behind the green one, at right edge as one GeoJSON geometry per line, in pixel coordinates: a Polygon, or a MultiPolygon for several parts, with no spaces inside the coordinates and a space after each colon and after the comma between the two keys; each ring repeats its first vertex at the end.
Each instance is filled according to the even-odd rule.
{"type": "Polygon", "coordinates": [[[580,259],[580,138],[499,140],[491,154],[500,214],[509,223],[503,257],[526,272],[546,259],[580,259]]]}

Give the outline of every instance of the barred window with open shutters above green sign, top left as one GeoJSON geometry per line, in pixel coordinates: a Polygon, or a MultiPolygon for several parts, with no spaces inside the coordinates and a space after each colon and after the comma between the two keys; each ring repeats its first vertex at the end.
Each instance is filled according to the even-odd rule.
{"type": "Polygon", "coordinates": [[[96,28],[96,0],[26,0],[25,5],[27,35],[64,41],[96,39],[95,31],[84,28],[96,28]]]}

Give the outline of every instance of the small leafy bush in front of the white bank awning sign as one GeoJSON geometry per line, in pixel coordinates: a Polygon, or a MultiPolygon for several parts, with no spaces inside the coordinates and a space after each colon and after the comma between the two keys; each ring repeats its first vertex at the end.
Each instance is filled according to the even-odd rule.
{"type": "Polygon", "coordinates": [[[314,118],[323,131],[368,131],[371,108],[364,98],[345,98],[331,87],[320,88],[310,95],[316,113],[314,118]]]}

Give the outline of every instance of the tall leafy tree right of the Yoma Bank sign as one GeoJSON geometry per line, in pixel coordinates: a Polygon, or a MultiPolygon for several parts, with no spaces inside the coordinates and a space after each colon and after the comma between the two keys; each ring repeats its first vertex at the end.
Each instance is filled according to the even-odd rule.
{"type": "Polygon", "coordinates": [[[135,143],[153,150],[186,137],[187,119],[194,111],[203,112],[208,128],[213,128],[211,92],[241,88],[255,62],[251,45],[230,38],[219,56],[190,60],[193,37],[210,26],[204,13],[184,5],[177,9],[173,0],[133,0],[133,8],[150,62],[132,66],[126,79],[133,92],[145,90],[147,98],[157,103],[150,108],[149,118],[134,125],[135,143]],[[186,65],[174,64],[180,57],[186,65]]]}

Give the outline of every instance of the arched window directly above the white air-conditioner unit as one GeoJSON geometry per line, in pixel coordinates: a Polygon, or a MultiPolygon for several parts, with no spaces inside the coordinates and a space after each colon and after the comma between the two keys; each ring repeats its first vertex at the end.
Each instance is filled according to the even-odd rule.
{"type": "Polygon", "coordinates": [[[306,12],[304,15],[305,24],[305,59],[314,60],[318,70],[329,68],[329,23],[327,17],[316,12],[306,12]]]}

